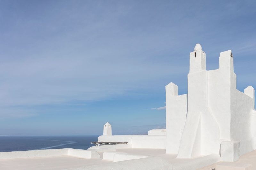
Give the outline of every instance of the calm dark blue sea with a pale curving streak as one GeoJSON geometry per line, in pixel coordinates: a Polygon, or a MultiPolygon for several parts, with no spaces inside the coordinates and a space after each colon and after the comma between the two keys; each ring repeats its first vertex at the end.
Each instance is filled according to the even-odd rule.
{"type": "Polygon", "coordinates": [[[0,136],[0,152],[35,149],[88,149],[98,136],[0,136]]]}

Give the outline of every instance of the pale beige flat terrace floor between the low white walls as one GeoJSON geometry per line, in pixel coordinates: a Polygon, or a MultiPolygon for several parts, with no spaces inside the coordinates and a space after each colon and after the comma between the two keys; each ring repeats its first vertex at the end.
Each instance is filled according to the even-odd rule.
{"type": "MultiPolygon", "coordinates": [[[[174,154],[165,154],[165,149],[116,149],[117,152],[126,152],[128,154],[145,155],[153,157],[161,157],[171,163],[173,166],[185,165],[193,162],[195,159],[176,159],[174,154]]],[[[2,170],[35,170],[47,169],[58,170],[68,168],[78,168],[89,165],[99,165],[110,163],[111,161],[103,161],[102,154],[100,159],[83,159],[71,156],[55,156],[41,158],[20,158],[20,159],[0,159],[0,169],[2,170]]],[[[197,158],[200,160],[200,158],[197,158]]],[[[235,163],[252,164],[253,169],[256,169],[256,150],[242,155],[235,163]]],[[[201,160],[202,161],[202,160],[201,160]]],[[[200,170],[212,170],[218,163],[201,168],[200,170]]]]}

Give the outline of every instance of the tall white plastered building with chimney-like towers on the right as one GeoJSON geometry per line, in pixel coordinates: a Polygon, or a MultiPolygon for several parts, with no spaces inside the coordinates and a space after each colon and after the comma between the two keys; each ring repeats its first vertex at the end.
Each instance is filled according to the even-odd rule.
{"type": "Polygon", "coordinates": [[[254,89],[236,89],[231,50],[221,52],[219,69],[206,70],[200,44],[190,53],[188,94],[166,86],[166,153],[178,158],[220,154],[234,161],[255,149],[254,89]]]}

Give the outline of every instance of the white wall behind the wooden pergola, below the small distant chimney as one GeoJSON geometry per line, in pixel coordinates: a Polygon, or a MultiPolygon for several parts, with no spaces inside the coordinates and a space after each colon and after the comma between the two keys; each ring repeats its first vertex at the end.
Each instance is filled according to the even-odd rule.
{"type": "MultiPolygon", "coordinates": [[[[166,148],[166,135],[112,135],[112,136],[99,136],[99,142],[128,142],[132,148],[166,148]]],[[[103,146],[105,148],[119,145],[103,146]]],[[[90,148],[89,148],[90,149],[90,148]]]]}

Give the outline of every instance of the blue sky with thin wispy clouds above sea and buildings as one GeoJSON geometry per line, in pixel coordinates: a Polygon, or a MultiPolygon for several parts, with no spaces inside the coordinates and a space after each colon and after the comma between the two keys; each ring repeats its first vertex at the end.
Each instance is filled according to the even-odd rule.
{"type": "Polygon", "coordinates": [[[232,50],[256,88],[256,1],[0,0],[0,135],[147,134],[165,128],[165,85],[187,93],[232,50]]]}

